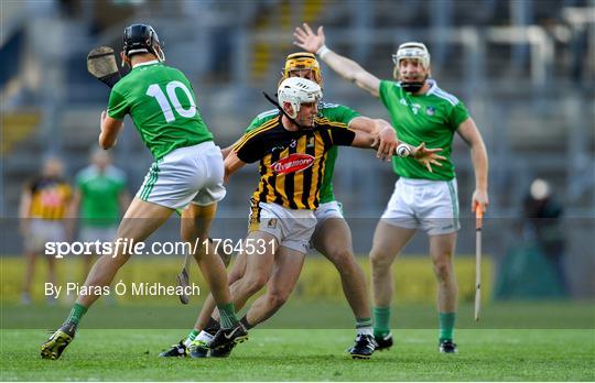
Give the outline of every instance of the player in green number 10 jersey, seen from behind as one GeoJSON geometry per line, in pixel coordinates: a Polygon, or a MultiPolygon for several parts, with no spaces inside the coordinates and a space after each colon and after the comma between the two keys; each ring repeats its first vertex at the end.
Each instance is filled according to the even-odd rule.
{"type": "MultiPolygon", "coordinates": [[[[44,359],[60,358],[83,315],[109,293],[116,273],[132,255],[131,247],[120,243],[144,241],[172,212],[186,206],[181,223],[183,237],[202,243],[208,238],[217,203],[225,197],[223,156],[198,113],[188,79],[163,64],[158,34],[150,25],[126,28],[122,40],[121,58],[131,70],[111,89],[108,112],[101,113],[99,145],[104,150],[112,147],[125,116],[130,114],[155,161],[118,227],[111,250],[93,266],[64,325],[42,344],[44,359]]],[[[247,339],[247,331],[236,318],[224,263],[214,252],[196,248],[193,255],[221,313],[221,331],[214,344],[223,347],[247,339]]]]}

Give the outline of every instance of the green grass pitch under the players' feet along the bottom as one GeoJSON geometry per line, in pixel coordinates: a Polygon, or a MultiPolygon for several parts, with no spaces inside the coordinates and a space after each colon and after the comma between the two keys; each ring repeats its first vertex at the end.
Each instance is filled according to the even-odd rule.
{"type": "Polygon", "coordinates": [[[2,381],[594,381],[595,330],[457,330],[440,354],[436,330],[393,331],[372,359],[345,352],[353,330],[255,329],[229,359],[163,359],[186,330],[83,329],[57,361],[40,358],[43,330],[2,330],[2,381]]]}

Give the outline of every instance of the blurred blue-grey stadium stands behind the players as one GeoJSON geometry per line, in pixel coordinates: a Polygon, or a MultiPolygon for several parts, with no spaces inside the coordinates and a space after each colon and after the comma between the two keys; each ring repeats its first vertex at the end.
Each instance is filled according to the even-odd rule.
{"type": "MultiPolygon", "coordinates": [[[[23,183],[36,174],[47,155],[65,161],[71,180],[88,163],[109,92],[87,74],[86,55],[98,45],[119,51],[121,32],[132,22],[156,29],[167,64],[182,69],[194,84],[201,112],[221,147],[239,138],[256,114],[271,108],[261,91],[274,91],[284,57],[298,51],[292,31],[301,22],[323,24],[332,50],[380,78],[391,78],[390,56],[400,43],[425,42],[433,77],[467,105],[488,147],[490,207],[484,249],[489,255],[485,271],[489,281],[500,281],[504,287],[513,284],[510,281],[522,284],[533,278],[540,286],[555,283],[539,269],[544,261],[523,251],[534,240],[523,220],[523,198],[530,183],[540,177],[553,186],[564,208],[559,229],[566,243],[567,295],[595,297],[593,0],[1,0],[0,4],[4,302],[18,299],[20,286],[22,240],[17,217],[23,183]]],[[[326,101],[389,120],[379,100],[324,65],[323,76],[326,101]]],[[[113,156],[128,174],[130,192],[136,193],[151,157],[131,121],[126,125],[113,156]]],[[[474,178],[466,145],[458,138],[454,145],[463,220],[457,253],[463,261],[468,255],[470,266],[467,272],[465,265],[459,269],[468,274],[462,281],[465,302],[472,295],[464,292],[473,291],[475,242],[468,206],[474,178]]],[[[359,254],[370,248],[394,180],[391,167],[371,152],[340,150],[335,193],[344,204],[359,254]]],[[[255,168],[244,169],[231,180],[214,237],[245,234],[249,195],[256,184],[255,168]]],[[[177,238],[175,218],[153,237],[177,238]]],[[[421,293],[410,294],[432,302],[433,287],[415,278],[423,270],[426,276],[421,281],[433,283],[429,260],[423,263],[414,258],[426,253],[424,236],[418,236],[405,253],[412,255],[407,261],[412,269],[405,267],[401,275],[425,285],[421,293]]],[[[170,264],[172,277],[178,264],[177,259],[170,264]]],[[[312,283],[321,281],[316,274],[309,275],[312,283]]],[[[338,277],[333,281],[340,294],[338,277]]],[[[530,289],[524,297],[563,295],[556,289],[530,289]]],[[[522,291],[517,291],[521,297],[522,291]]]]}

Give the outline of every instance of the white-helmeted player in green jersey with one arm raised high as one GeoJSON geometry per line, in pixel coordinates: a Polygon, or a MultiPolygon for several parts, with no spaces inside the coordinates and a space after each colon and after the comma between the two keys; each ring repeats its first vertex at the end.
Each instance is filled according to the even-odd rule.
{"type": "Polygon", "coordinates": [[[380,80],[351,59],[325,45],[324,31],[307,24],[295,29],[295,44],[316,53],[333,70],[355,83],[388,109],[399,140],[412,145],[425,142],[442,147],[446,161],[430,172],[410,157],[393,157],[400,176],[374,236],[372,266],[375,337],[378,349],[392,346],[390,304],[391,264],[418,229],[430,238],[430,255],[437,281],[439,350],[456,352],[453,328],[457,309],[457,284],[453,270],[458,222],[458,197],[451,151],[454,133],[468,144],[475,169],[472,210],[488,205],[488,160],[482,135],[465,106],[431,79],[430,53],[424,44],[405,43],[393,55],[394,80],[380,80]]]}

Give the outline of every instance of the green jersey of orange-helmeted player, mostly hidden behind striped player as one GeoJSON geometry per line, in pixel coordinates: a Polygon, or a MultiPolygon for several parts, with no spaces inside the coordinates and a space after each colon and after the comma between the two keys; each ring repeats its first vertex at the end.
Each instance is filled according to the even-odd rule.
{"type": "MultiPolygon", "coordinates": [[[[246,132],[255,130],[273,118],[278,118],[279,113],[279,109],[271,109],[258,114],[246,129],[246,132]]],[[[343,105],[321,102],[318,105],[318,116],[325,117],[332,122],[343,122],[345,124],[349,124],[349,122],[358,117],[359,113],[343,105]]],[[[323,182],[321,184],[321,204],[335,200],[335,195],[333,193],[333,173],[335,172],[335,162],[337,161],[337,146],[333,146],[327,152],[326,161],[324,163],[323,182]]]]}

